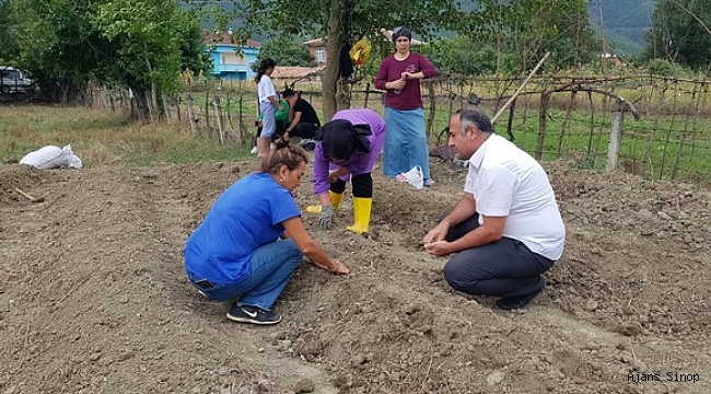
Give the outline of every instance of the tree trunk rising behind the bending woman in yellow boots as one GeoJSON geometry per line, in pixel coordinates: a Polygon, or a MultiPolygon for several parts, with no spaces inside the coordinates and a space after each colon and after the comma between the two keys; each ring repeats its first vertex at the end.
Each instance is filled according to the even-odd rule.
{"type": "Polygon", "coordinates": [[[322,84],[322,100],[324,106],[324,121],[330,120],[336,111],[338,102],[338,79],[340,69],[340,46],[341,36],[339,31],[340,1],[330,0],[330,15],[328,19],[328,61],[324,70],[322,84]]]}

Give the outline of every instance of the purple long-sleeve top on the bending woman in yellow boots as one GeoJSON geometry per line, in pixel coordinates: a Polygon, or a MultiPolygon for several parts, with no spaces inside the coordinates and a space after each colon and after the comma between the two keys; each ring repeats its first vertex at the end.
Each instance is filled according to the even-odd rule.
{"type": "Polygon", "coordinates": [[[330,186],[328,183],[328,173],[330,171],[335,171],[340,166],[347,167],[350,174],[341,176],[343,181],[348,181],[352,175],[370,173],[373,171],[377,155],[383,150],[385,120],[375,111],[368,108],[341,109],[331,118],[331,120],[336,119],[349,120],[353,126],[369,125],[373,132],[368,136],[368,140],[371,142],[371,151],[370,153],[356,151],[346,162],[334,164],[324,158],[322,142],[316,142],[316,148],[314,149],[314,175],[312,178],[316,196],[328,193],[330,186]]]}

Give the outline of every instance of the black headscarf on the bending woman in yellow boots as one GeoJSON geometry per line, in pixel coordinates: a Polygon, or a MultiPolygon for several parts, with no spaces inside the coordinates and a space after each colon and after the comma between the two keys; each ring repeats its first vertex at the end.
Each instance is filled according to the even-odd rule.
{"type": "Polygon", "coordinates": [[[372,134],[369,125],[353,125],[349,120],[336,119],[319,128],[314,139],[320,141],[327,160],[348,160],[356,151],[371,151],[368,136],[372,134]]]}

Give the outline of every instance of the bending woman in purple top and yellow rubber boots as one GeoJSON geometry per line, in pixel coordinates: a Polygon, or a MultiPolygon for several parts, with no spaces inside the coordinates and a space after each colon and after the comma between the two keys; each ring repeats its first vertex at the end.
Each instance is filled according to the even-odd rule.
{"type": "Polygon", "coordinates": [[[371,172],[383,150],[385,121],[372,109],[342,109],[316,131],[314,149],[314,193],[320,207],[318,224],[330,229],[335,211],[343,200],[346,182],[353,188],[353,225],[356,233],[368,232],[373,205],[371,172]]]}

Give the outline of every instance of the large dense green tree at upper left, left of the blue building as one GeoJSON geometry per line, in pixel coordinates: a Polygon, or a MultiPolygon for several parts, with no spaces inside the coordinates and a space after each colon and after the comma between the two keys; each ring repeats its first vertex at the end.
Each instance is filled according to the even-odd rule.
{"type": "Polygon", "coordinates": [[[158,94],[177,91],[183,69],[205,65],[199,19],[177,0],[9,1],[9,30],[23,32],[15,59],[31,65],[45,89],[79,92],[89,81],[130,88],[135,115],[143,117],[145,92],[160,111],[158,94]]]}

